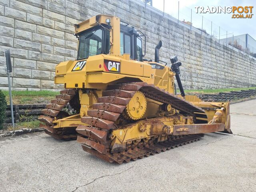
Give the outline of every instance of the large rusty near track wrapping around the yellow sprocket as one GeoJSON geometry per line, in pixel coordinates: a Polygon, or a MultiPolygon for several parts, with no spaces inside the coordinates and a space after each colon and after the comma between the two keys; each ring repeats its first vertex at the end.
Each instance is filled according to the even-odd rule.
{"type": "MultiPolygon", "coordinates": [[[[82,144],[82,148],[86,152],[108,162],[120,164],[123,161],[136,160],[137,158],[143,158],[150,154],[196,141],[203,136],[203,134],[189,135],[182,138],[172,138],[170,136],[167,142],[155,143],[155,141],[151,140],[148,143],[140,143],[130,148],[126,147],[126,151],[112,151],[110,149],[111,140],[108,136],[110,136],[111,130],[119,128],[119,125],[115,124],[115,122],[118,122],[118,118],[122,117],[121,114],[136,91],[140,91],[146,97],[158,102],[171,104],[181,114],[194,116],[195,119],[197,117],[207,118],[201,108],[152,84],[132,82],[110,85],[106,91],[102,92],[102,97],[98,98],[98,103],[93,104],[92,109],[88,110],[88,116],[82,117],[82,122],[91,126],[80,125],[76,129],[80,134],[77,141],[82,144]]],[[[123,124],[120,125],[124,126],[123,124]]]]}

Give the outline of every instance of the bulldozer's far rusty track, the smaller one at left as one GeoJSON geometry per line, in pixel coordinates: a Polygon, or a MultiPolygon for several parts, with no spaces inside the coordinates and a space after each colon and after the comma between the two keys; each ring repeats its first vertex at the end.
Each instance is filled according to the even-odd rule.
{"type": "Polygon", "coordinates": [[[76,139],[75,127],[53,128],[53,121],[55,119],[68,116],[68,113],[62,111],[62,109],[70,102],[75,94],[76,90],[73,89],[62,90],[59,95],[56,95],[56,99],[51,100],[51,103],[47,104],[46,108],[41,111],[44,115],[39,116],[38,120],[44,123],[40,124],[40,128],[44,128],[46,134],[56,139],[76,139]]]}

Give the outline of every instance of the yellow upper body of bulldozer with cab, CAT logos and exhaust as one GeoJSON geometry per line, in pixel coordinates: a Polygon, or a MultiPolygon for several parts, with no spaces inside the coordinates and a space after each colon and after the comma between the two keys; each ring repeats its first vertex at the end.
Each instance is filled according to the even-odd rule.
{"type": "Polygon", "coordinates": [[[77,59],[56,66],[56,84],[103,89],[116,82],[136,81],[174,92],[174,73],[157,63],[160,47],[155,62],[143,59],[146,36],[139,30],[108,15],[97,15],[74,26],[79,42],[77,59]]]}

